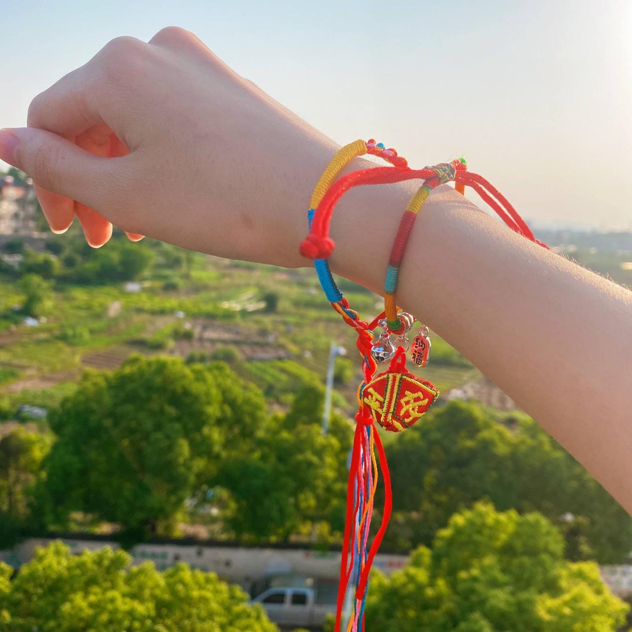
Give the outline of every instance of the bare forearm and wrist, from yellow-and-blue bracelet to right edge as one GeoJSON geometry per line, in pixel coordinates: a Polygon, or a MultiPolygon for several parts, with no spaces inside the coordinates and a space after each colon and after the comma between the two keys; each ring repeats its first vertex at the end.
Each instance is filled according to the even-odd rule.
{"type": "MultiPolygon", "coordinates": [[[[414,186],[346,195],[332,222],[335,269],[380,293],[414,186]]],[[[398,304],[632,512],[632,293],[518,236],[444,186],[413,228],[398,304]]]]}

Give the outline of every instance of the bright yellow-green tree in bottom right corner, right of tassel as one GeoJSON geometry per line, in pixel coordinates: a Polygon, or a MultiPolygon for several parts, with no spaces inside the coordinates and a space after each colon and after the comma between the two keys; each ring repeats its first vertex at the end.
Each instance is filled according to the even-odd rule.
{"type": "Polygon", "coordinates": [[[563,557],[559,531],[538,513],[475,504],[454,514],[432,549],[390,578],[375,574],[367,628],[383,632],[615,632],[629,606],[594,562],[563,557]]]}

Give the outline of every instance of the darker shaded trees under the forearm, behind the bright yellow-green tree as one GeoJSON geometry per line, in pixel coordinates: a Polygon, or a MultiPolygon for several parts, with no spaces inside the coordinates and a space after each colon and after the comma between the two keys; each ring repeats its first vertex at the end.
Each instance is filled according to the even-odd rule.
{"type": "Polygon", "coordinates": [[[453,513],[487,498],[556,522],[571,559],[625,559],[628,514],[530,418],[514,416],[511,429],[501,422],[477,404],[453,402],[387,444],[394,514],[386,545],[429,545],[453,513]]]}

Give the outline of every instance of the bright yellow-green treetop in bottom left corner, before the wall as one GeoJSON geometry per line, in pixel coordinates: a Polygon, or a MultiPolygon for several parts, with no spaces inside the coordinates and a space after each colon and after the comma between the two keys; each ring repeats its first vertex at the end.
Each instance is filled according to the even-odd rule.
{"type": "Polygon", "coordinates": [[[73,556],[60,542],[38,549],[8,581],[0,562],[0,629],[40,632],[277,632],[260,605],[215,573],[152,562],[109,548],[73,556]]]}

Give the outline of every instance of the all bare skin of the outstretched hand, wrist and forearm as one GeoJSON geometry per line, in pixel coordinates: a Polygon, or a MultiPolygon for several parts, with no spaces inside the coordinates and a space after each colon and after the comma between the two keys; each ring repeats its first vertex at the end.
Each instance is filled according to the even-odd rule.
{"type": "MultiPolygon", "coordinates": [[[[310,265],[298,245],[313,185],[337,147],[175,27],[147,44],[112,40],[33,100],[28,128],[0,133],[0,158],[32,176],[55,232],[76,215],[95,247],[114,224],[132,240],[145,234],[285,267],[310,265]]],[[[367,166],[356,159],[349,169],[367,166]]],[[[345,195],[331,227],[334,271],[380,293],[418,185],[345,195]]],[[[398,304],[632,512],[631,292],[518,236],[446,185],[413,228],[398,304]]]]}

